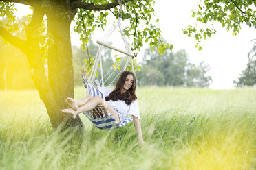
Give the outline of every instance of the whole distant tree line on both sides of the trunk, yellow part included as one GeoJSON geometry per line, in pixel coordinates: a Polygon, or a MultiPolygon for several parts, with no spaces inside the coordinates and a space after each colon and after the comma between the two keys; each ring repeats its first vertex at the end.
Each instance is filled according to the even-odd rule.
{"type": "MultiPolygon", "coordinates": [[[[0,41],[0,44],[0,49],[3,49],[0,51],[0,89],[34,89],[34,82],[31,79],[30,69],[23,53],[11,45],[4,45],[3,41],[0,41]],[[17,56],[17,60],[10,60],[10,58],[13,59],[11,56],[17,56]]],[[[96,55],[98,45],[89,42],[88,49],[89,51],[84,51],[82,47],[72,46],[74,86],[83,86],[81,68],[84,66],[84,60],[88,60],[88,54],[91,57],[96,55]]],[[[103,74],[105,75],[114,64],[115,58],[111,55],[110,49],[104,49],[102,56],[103,74]]],[[[150,49],[147,49],[142,58],[141,66],[143,69],[136,72],[139,86],[207,87],[211,84],[211,77],[206,76],[209,65],[204,64],[204,62],[192,64],[189,62],[185,50],[176,53],[167,51],[161,56],[156,52],[151,53],[150,49]]],[[[47,71],[47,68],[45,69],[47,71]]],[[[114,73],[113,77],[117,74],[118,71],[114,73]]],[[[111,79],[105,84],[108,85],[110,82],[111,79]]]]}

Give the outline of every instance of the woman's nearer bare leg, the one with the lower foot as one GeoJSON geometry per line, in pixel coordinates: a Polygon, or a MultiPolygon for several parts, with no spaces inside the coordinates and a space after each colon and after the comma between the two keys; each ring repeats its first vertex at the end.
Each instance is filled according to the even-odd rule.
{"type": "MultiPolygon", "coordinates": [[[[118,123],[120,123],[120,118],[119,118],[118,112],[116,112],[116,110],[114,110],[114,108],[112,108],[107,102],[105,102],[105,103],[107,104],[107,110],[110,112],[110,114],[112,114],[114,116],[116,121],[118,121],[118,123]]],[[[97,95],[95,97],[92,97],[92,99],[89,99],[89,101],[87,101],[87,103],[84,104],[83,106],[78,107],[77,110],[73,110],[72,108],[66,108],[66,109],[61,110],[61,112],[70,114],[73,119],[76,119],[77,114],[79,114],[81,112],[86,112],[86,111],[92,110],[96,106],[102,105],[102,104],[104,104],[104,100],[100,96],[97,95]]]]}

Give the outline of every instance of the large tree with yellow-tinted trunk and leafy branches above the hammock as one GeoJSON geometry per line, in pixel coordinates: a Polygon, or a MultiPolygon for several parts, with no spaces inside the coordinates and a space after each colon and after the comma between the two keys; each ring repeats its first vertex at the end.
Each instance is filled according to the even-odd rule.
{"type": "MultiPolygon", "coordinates": [[[[81,35],[83,48],[86,49],[89,36],[96,27],[106,25],[109,11],[118,17],[118,0],[1,0],[0,35],[10,44],[20,49],[28,59],[30,73],[36,89],[50,117],[52,127],[58,127],[64,116],[62,108],[67,108],[64,100],[74,97],[74,71],[72,66],[72,47],[70,42],[70,23],[76,22],[76,32],[81,35]],[[14,3],[30,5],[30,23],[15,23],[14,3]],[[8,22],[4,22],[8,21],[8,22]],[[47,21],[47,25],[45,24],[47,21]],[[15,34],[22,29],[25,38],[15,34]],[[45,60],[47,74],[45,75],[45,60]]],[[[160,53],[173,46],[160,39],[160,29],[151,24],[155,12],[153,0],[125,0],[126,10],[119,14],[129,19],[130,27],[125,34],[131,40],[131,47],[139,50],[143,42],[158,47],[160,53]],[[140,27],[143,25],[143,27],[140,27]]],[[[83,129],[81,119],[67,118],[65,125],[83,129]]]]}

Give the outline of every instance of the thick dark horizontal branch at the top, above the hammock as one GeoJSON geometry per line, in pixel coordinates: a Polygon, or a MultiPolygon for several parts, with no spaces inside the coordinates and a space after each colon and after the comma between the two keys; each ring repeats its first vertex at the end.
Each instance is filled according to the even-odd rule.
{"type": "MultiPolygon", "coordinates": [[[[127,2],[131,2],[133,0],[125,0],[125,3],[127,2]]],[[[84,3],[81,1],[75,1],[72,3],[72,8],[83,8],[85,10],[96,10],[96,11],[100,11],[100,10],[109,10],[111,8],[114,8],[116,6],[118,6],[118,0],[112,2],[112,3],[107,3],[105,5],[95,5],[93,3],[84,3]]]]}

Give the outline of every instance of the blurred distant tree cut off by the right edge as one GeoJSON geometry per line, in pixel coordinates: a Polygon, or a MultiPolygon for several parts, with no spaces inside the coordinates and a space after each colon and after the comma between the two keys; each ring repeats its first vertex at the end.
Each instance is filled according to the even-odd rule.
{"type": "Polygon", "coordinates": [[[256,44],[248,53],[247,67],[238,78],[238,81],[233,81],[237,87],[256,86],[256,44]]]}

